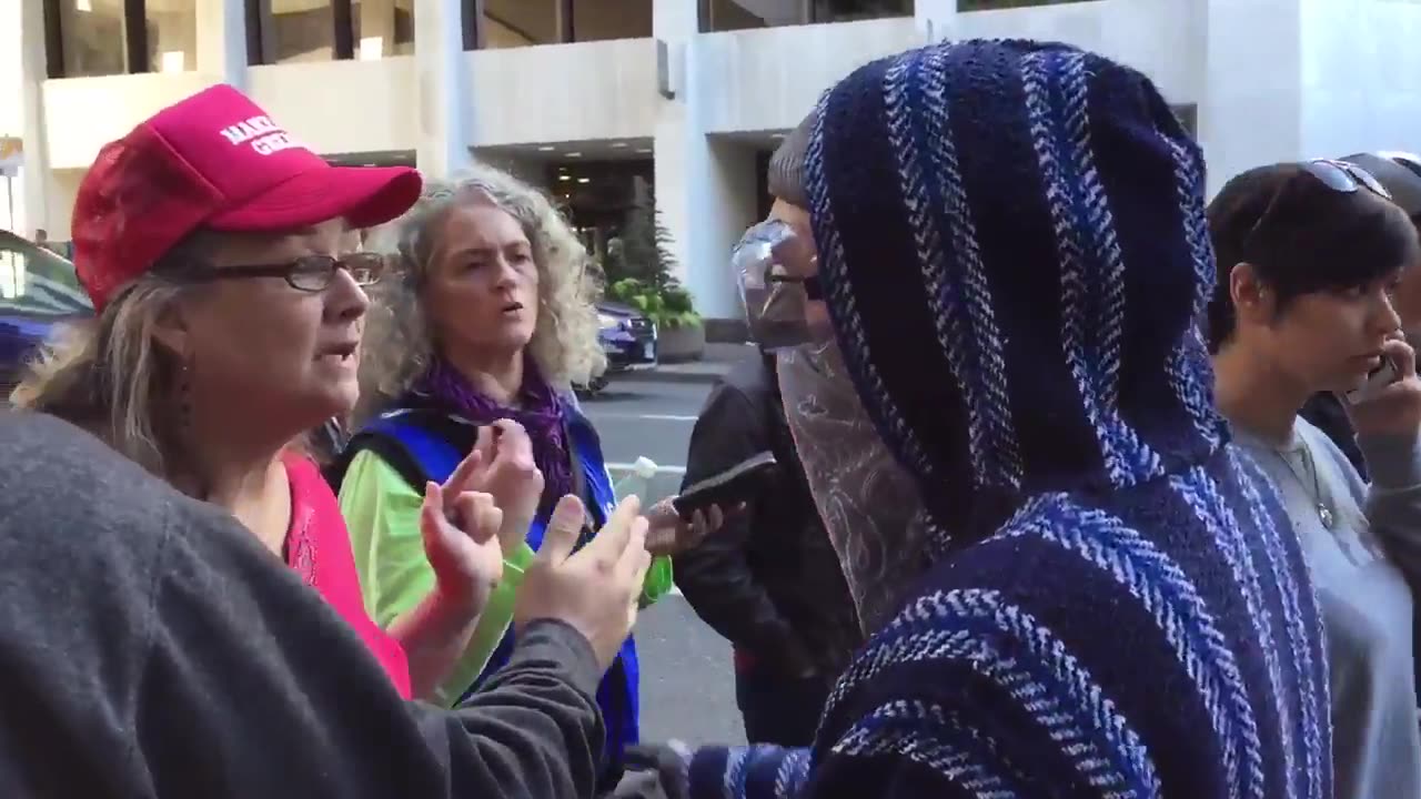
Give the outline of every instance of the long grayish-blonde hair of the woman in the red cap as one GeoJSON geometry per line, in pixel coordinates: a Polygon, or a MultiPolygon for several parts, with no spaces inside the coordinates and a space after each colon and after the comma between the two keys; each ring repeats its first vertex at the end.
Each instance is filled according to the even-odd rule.
{"type": "Polygon", "coordinates": [[[159,314],[182,287],[148,273],[97,318],[60,324],[10,394],[17,408],[53,414],[169,478],[172,395],[180,364],[156,345],[159,314]]]}

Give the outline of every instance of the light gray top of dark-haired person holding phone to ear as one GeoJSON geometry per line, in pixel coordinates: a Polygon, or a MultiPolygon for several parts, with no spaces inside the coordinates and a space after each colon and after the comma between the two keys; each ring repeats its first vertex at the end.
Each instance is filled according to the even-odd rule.
{"type": "Polygon", "coordinates": [[[1306,419],[1295,422],[1282,448],[1242,429],[1236,438],[1277,486],[1317,586],[1331,670],[1337,799],[1421,796],[1407,580],[1421,574],[1417,439],[1360,438],[1374,481],[1368,486],[1306,419]]]}

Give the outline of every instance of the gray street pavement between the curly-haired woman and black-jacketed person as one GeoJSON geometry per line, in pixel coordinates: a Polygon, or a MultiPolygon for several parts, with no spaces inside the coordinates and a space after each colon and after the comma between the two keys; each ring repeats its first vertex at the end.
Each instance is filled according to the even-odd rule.
{"type": "MultiPolygon", "coordinates": [[[[583,401],[603,439],[612,479],[638,456],[659,466],[651,502],[674,495],[685,472],[686,445],[709,384],[614,377],[598,397],[583,401]]],[[[735,705],[730,647],[672,594],[637,620],[641,658],[641,736],[647,742],[679,738],[689,744],[743,744],[735,705]]]]}

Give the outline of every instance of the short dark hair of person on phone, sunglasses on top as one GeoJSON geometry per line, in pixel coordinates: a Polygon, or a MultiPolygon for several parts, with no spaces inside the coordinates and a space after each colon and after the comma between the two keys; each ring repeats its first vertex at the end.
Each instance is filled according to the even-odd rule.
{"type": "Polygon", "coordinates": [[[1211,348],[1233,333],[1229,273],[1252,263],[1279,310],[1302,294],[1346,291],[1390,277],[1421,254],[1405,212],[1366,186],[1339,192],[1297,163],[1249,169],[1209,203],[1216,284],[1211,348]]]}

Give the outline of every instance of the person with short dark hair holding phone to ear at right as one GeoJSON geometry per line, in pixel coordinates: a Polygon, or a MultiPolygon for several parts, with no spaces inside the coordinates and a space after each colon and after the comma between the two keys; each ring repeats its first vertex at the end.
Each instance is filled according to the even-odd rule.
{"type": "Polygon", "coordinates": [[[1327,633],[1340,799],[1421,796],[1414,596],[1421,574],[1421,381],[1393,301],[1417,230],[1368,172],[1340,161],[1250,169],[1209,205],[1216,401],[1277,486],[1327,633]],[[1367,485],[1299,415],[1347,407],[1367,485]]]}

